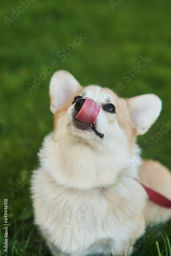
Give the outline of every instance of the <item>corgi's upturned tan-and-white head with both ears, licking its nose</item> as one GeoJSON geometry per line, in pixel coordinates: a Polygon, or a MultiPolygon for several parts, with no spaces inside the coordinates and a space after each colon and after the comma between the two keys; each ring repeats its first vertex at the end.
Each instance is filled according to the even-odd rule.
{"type": "Polygon", "coordinates": [[[154,94],[122,99],[110,89],[81,87],[62,70],[51,78],[50,99],[56,132],[62,129],[63,134],[70,133],[75,140],[92,146],[118,143],[116,148],[123,148],[126,143],[130,147],[161,111],[161,100],[154,94]]]}

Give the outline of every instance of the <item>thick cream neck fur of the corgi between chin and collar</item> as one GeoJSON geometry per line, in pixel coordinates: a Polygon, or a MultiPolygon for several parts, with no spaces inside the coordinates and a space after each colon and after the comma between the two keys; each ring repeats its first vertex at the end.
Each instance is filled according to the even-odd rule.
{"type": "Polygon", "coordinates": [[[79,189],[94,189],[114,185],[118,177],[137,178],[141,164],[140,150],[135,145],[129,158],[115,156],[112,151],[90,147],[87,143],[54,141],[50,134],[45,138],[39,153],[40,164],[60,185],[79,189]]]}

